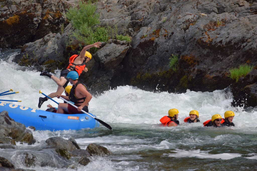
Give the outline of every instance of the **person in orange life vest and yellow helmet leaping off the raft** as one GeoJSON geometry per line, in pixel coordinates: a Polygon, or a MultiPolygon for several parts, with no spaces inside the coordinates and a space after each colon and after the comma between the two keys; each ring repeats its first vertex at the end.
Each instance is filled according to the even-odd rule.
{"type": "MultiPolygon", "coordinates": [[[[86,63],[89,62],[89,60],[92,58],[92,55],[87,52],[87,49],[90,49],[91,47],[100,47],[101,46],[101,42],[96,42],[94,44],[91,45],[87,45],[85,46],[79,55],[72,55],[70,57],[69,60],[69,65],[68,67],[63,70],[61,72],[60,75],[60,79],[57,78],[56,76],[53,76],[52,74],[50,74],[48,71],[42,72],[40,75],[41,76],[47,76],[49,78],[51,78],[54,82],[56,82],[56,84],[58,85],[57,91],[54,93],[49,94],[48,96],[53,98],[56,97],[57,94],[62,94],[62,92],[64,91],[64,88],[67,86],[67,84],[69,83],[69,80],[67,78],[67,74],[70,71],[76,71],[78,73],[78,75],[80,76],[80,74],[84,71],[87,72],[88,69],[86,68],[86,63]]],[[[47,101],[48,98],[47,97],[39,97],[39,102],[38,102],[38,108],[41,107],[41,105],[47,101]]]]}

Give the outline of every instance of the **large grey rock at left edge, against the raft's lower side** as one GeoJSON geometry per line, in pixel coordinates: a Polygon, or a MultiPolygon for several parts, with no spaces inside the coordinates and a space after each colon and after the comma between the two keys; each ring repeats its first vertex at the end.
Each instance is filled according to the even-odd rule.
{"type": "Polygon", "coordinates": [[[15,122],[9,117],[8,112],[3,111],[0,113],[0,137],[18,138],[26,129],[25,125],[15,122]]]}

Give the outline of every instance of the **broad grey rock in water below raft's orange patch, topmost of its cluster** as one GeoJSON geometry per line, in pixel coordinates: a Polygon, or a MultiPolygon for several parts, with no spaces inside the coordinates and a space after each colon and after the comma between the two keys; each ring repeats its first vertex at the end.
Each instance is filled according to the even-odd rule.
{"type": "Polygon", "coordinates": [[[51,148],[63,148],[68,151],[77,149],[77,147],[72,144],[70,140],[66,140],[61,137],[51,137],[45,140],[45,142],[48,146],[51,146],[51,148]]]}

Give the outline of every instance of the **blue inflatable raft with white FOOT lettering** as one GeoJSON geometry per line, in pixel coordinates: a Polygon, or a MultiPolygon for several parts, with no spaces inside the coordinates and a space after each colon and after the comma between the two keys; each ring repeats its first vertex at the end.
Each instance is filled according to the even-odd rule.
{"type": "Polygon", "coordinates": [[[0,102],[0,112],[3,110],[6,110],[15,122],[26,127],[34,126],[36,130],[79,130],[99,127],[99,122],[87,114],[59,114],[0,102]]]}

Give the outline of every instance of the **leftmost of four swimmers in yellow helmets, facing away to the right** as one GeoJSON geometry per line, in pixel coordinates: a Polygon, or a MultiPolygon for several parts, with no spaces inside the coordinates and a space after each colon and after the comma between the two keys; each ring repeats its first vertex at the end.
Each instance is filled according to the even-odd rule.
{"type": "Polygon", "coordinates": [[[177,120],[178,113],[179,113],[178,109],[170,109],[168,111],[169,116],[163,116],[160,119],[160,122],[162,123],[163,126],[168,126],[168,127],[177,126],[179,125],[179,121],[177,120]]]}

